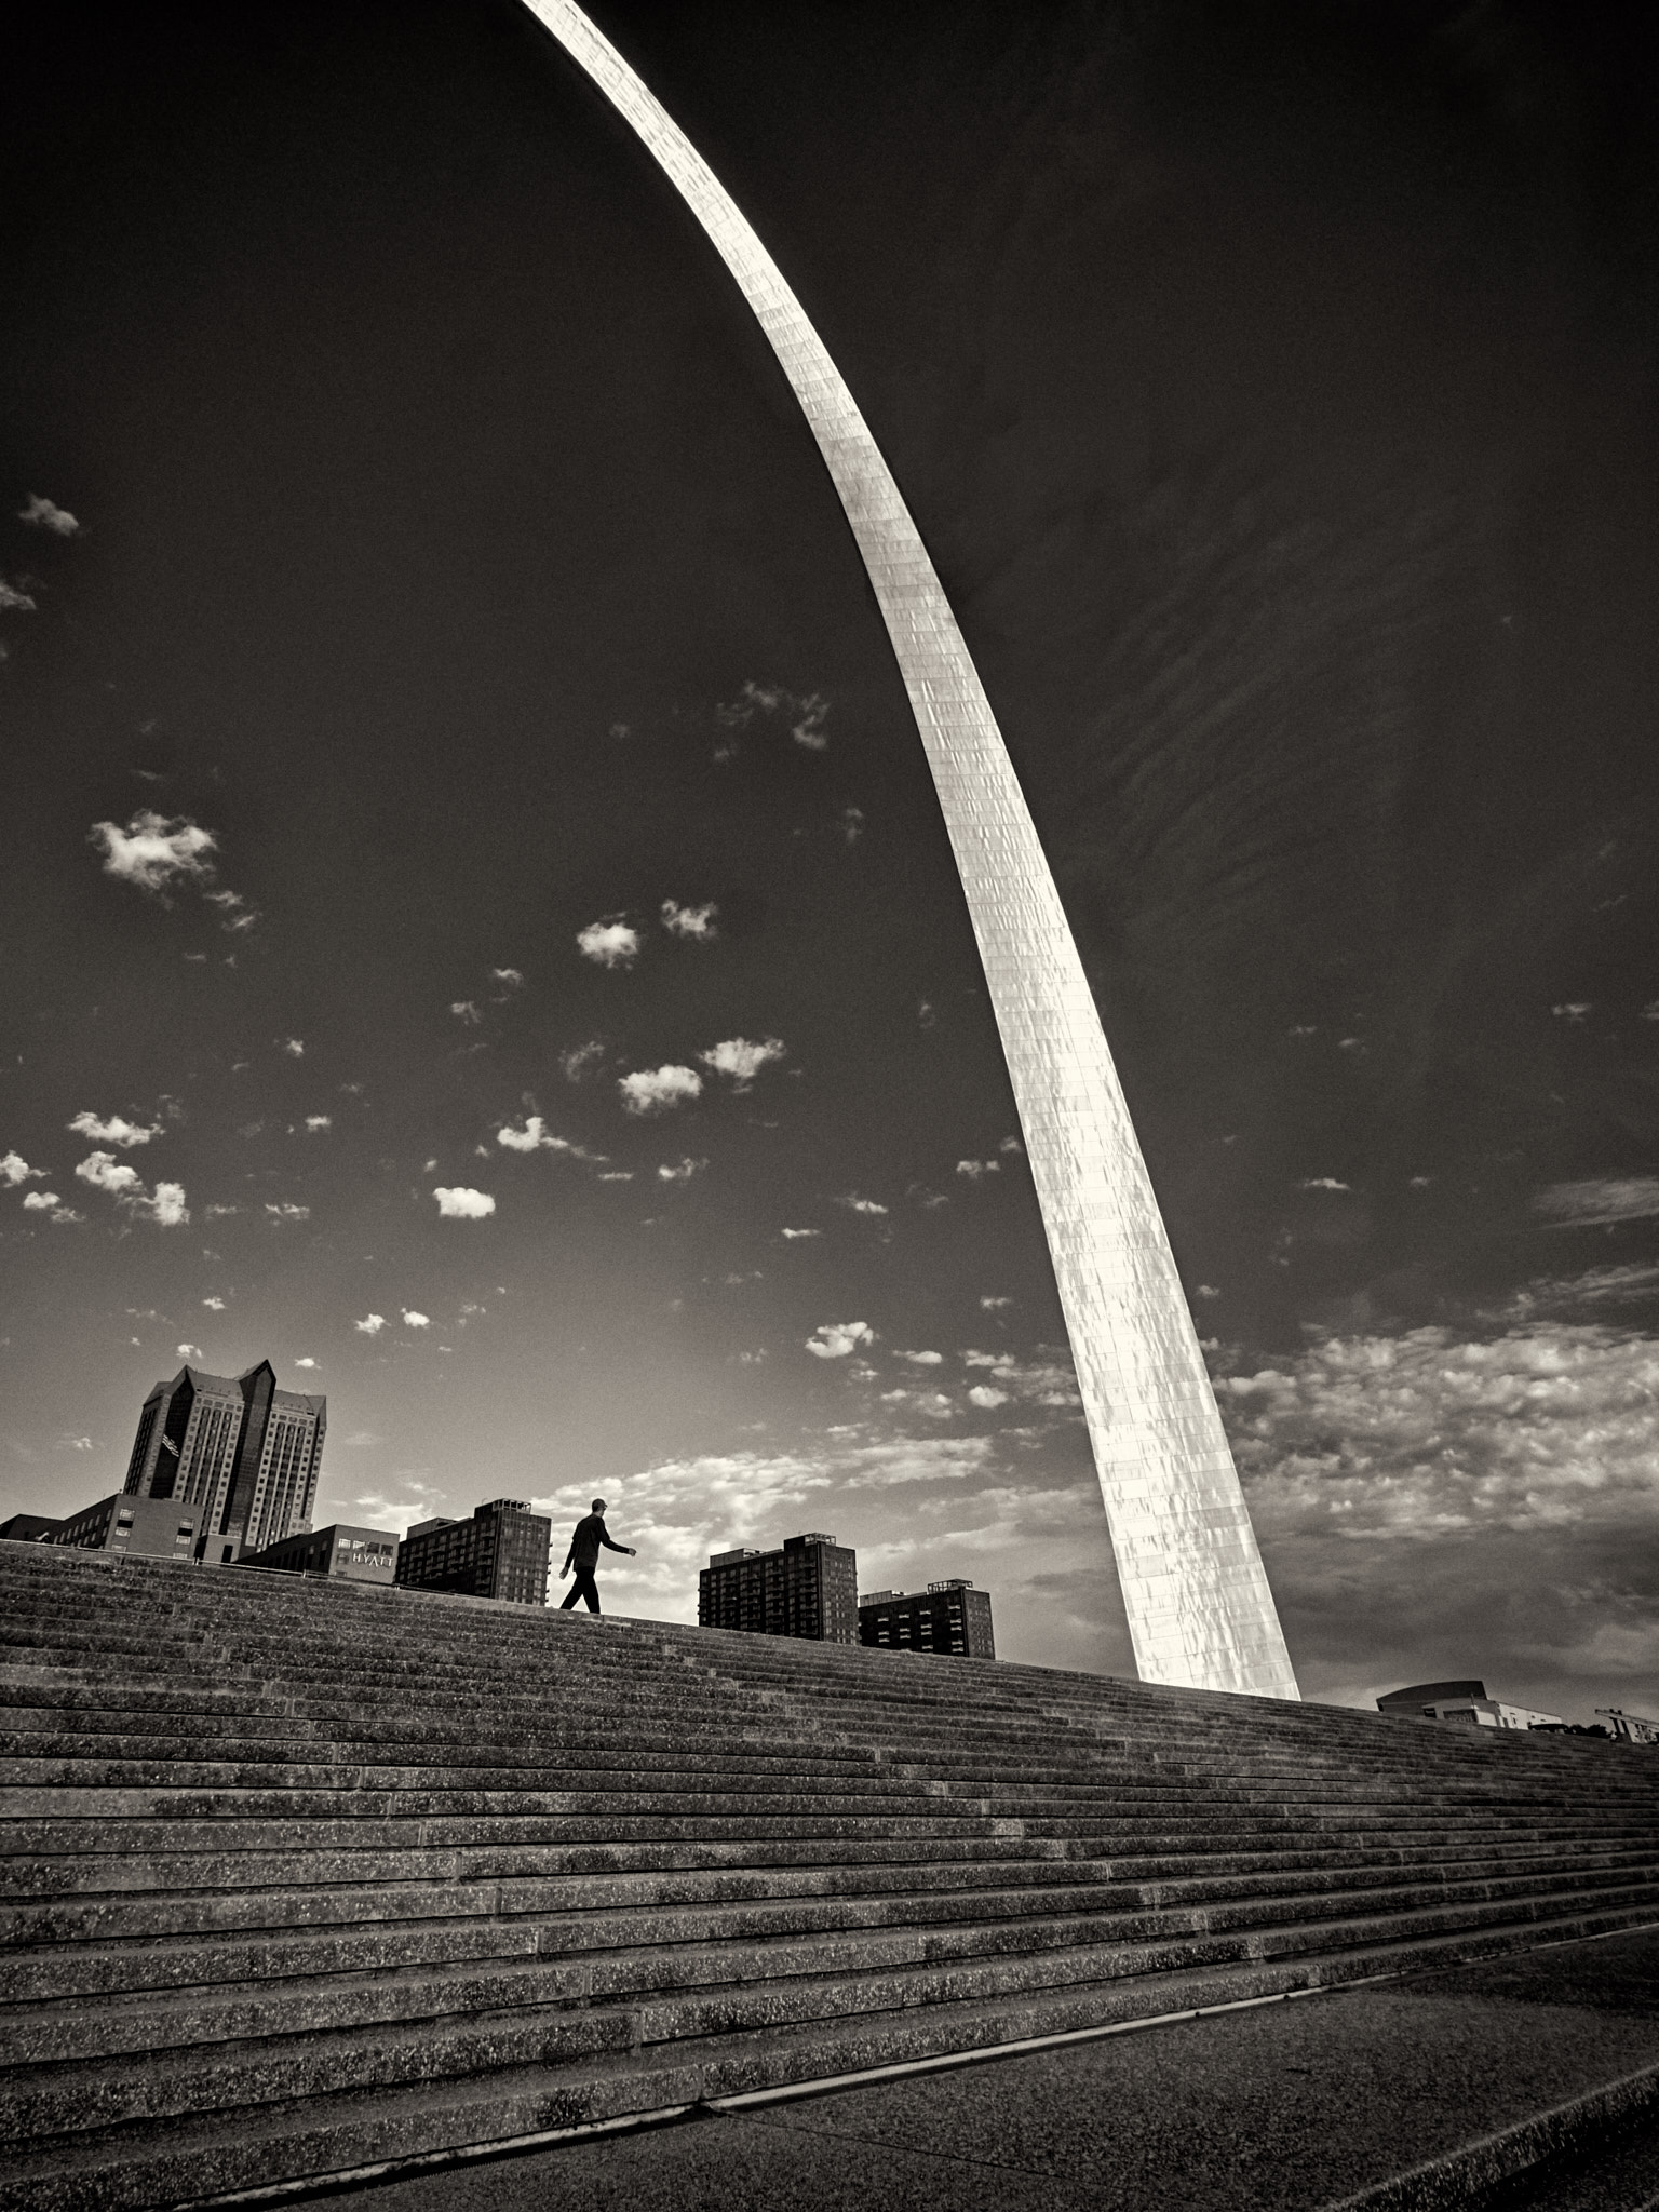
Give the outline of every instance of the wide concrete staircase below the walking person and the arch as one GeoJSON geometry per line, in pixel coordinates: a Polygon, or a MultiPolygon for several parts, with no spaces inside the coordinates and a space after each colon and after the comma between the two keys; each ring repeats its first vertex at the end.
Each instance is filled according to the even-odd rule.
{"type": "Polygon", "coordinates": [[[7,2212],[1659,1920],[1659,1754],[0,1544],[7,2212]]]}

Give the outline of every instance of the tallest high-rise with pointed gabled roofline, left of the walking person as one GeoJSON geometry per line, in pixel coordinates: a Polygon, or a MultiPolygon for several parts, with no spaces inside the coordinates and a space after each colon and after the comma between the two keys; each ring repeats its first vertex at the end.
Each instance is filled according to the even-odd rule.
{"type": "Polygon", "coordinates": [[[195,1555],[228,1566],[310,1528],[327,1398],[276,1389],[270,1360],[241,1376],[181,1367],[139,1413],[128,1498],[173,1498],[197,1515],[195,1555]]]}

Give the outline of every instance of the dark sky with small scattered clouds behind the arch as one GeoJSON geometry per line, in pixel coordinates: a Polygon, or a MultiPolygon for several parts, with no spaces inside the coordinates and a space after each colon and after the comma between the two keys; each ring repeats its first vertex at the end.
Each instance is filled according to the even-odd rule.
{"type": "MultiPolygon", "coordinates": [[[[195,1360],[319,1524],[803,1528],[1130,1672],[898,675],[712,250],[509,0],[0,86],[0,1513],[195,1360]]],[[[953,597],[1303,1692],[1659,1710],[1655,27],[595,20],[953,597]]]]}

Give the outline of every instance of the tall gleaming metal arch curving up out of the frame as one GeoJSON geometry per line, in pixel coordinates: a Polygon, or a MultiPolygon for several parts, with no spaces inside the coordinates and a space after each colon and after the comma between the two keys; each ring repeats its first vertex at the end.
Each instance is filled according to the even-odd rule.
{"type": "Polygon", "coordinates": [[[927,748],[980,945],[1144,1681],[1296,1697],[1192,1314],[1031,812],[898,484],[776,263],[571,0],[524,0],[661,164],[737,279],[841,493],[927,748]]]}

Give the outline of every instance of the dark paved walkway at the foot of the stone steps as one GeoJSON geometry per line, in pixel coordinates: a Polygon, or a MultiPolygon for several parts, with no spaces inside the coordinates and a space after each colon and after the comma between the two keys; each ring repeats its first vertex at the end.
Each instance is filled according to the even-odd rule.
{"type": "MultiPolygon", "coordinates": [[[[710,2112],[361,2212],[1316,2212],[1659,2062],[1659,1931],[710,2112]]],[[[1420,2199],[1427,2203],[1429,2199],[1420,2199]]],[[[1659,2205],[1659,2124],[1442,2203],[1659,2205]]]]}

